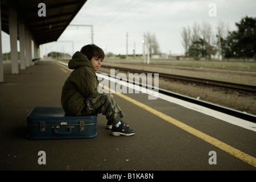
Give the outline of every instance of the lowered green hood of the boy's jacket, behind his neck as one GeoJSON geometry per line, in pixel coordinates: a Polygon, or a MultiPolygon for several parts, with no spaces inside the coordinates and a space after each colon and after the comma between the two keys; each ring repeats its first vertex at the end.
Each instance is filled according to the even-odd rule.
{"type": "Polygon", "coordinates": [[[78,67],[90,67],[92,68],[92,64],[90,64],[89,59],[81,52],[77,51],[72,59],[68,62],[69,69],[76,69],[78,67]]]}

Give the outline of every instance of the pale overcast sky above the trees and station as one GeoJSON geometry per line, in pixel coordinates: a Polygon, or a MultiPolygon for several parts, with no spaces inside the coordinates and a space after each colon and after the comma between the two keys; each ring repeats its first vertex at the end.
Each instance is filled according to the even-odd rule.
{"type": "MultiPolygon", "coordinates": [[[[88,0],[71,24],[93,25],[93,43],[105,53],[126,55],[128,44],[128,54],[133,54],[133,50],[142,54],[143,34],[149,32],[155,34],[160,52],[184,55],[183,27],[208,22],[213,34],[217,34],[221,20],[226,30],[234,31],[237,30],[235,23],[245,16],[256,17],[255,7],[255,0],[88,0]]],[[[3,53],[10,52],[9,35],[2,32],[2,41],[6,45],[3,53]]],[[[40,54],[57,51],[73,55],[91,43],[90,26],[68,26],[57,42],[40,45],[40,54]]]]}

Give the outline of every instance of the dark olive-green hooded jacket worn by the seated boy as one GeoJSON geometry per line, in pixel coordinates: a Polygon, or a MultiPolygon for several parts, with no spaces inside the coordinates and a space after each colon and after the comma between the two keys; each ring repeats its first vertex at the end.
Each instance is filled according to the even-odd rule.
{"type": "Polygon", "coordinates": [[[77,51],[68,62],[75,69],[65,81],[61,93],[61,105],[68,115],[80,115],[88,97],[98,94],[98,80],[88,58],[77,51]]]}

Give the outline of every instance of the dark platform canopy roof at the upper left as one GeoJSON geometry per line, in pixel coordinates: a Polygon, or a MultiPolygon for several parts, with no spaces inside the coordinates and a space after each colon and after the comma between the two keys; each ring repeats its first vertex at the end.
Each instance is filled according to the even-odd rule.
{"type": "Polygon", "coordinates": [[[86,0],[1,0],[2,31],[9,34],[8,9],[13,7],[40,45],[56,41],[86,0]],[[46,16],[39,16],[39,3],[46,5],[46,16]]]}

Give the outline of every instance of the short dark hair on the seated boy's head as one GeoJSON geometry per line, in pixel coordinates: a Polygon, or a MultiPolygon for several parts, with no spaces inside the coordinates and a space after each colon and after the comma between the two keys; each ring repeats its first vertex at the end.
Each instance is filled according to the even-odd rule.
{"type": "Polygon", "coordinates": [[[105,57],[104,51],[94,44],[88,44],[82,47],[80,52],[87,56],[89,61],[92,59],[92,57],[98,57],[100,59],[104,59],[105,57]]]}

